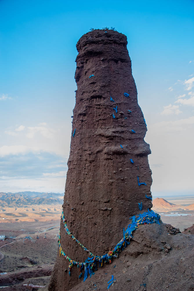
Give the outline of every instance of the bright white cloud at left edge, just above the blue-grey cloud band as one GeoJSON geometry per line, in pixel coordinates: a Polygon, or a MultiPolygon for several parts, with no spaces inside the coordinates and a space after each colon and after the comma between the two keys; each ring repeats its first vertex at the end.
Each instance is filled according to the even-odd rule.
{"type": "Polygon", "coordinates": [[[37,152],[37,148],[30,148],[25,145],[3,145],[0,147],[0,157],[5,157],[7,155],[19,155],[25,154],[26,152],[37,152]]]}

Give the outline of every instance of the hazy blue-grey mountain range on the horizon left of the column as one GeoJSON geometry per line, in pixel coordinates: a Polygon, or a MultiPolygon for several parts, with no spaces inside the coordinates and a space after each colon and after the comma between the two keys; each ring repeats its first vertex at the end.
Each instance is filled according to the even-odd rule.
{"type": "Polygon", "coordinates": [[[0,208],[4,207],[28,207],[31,205],[56,205],[63,204],[62,193],[45,192],[0,192],[0,208]]]}

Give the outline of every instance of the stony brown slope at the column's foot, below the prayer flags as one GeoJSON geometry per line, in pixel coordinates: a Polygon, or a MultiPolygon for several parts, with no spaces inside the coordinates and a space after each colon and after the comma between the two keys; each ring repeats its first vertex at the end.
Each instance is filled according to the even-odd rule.
{"type": "Polygon", "coordinates": [[[194,291],[193,265],[194,235],[168,234],[164,223],[143,225],[118,259],[70,291],[105,291],[112,275],[110,291],[194,291]]]}

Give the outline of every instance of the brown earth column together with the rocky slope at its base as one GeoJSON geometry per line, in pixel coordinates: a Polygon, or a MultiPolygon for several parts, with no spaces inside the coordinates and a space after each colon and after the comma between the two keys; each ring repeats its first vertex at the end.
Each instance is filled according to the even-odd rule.
{"type": "MultiPolygon", "coordinates": [[[[77,43],[72,123],[75,134],[71,139],[63,209],[72,234],[97,255],[105,254],[119,242],[129,217],[139,213],[138,203],[142,202],[142,211],[152,207],[151,200],[145,197],[151,195],[147,157],[150,149],[144,142],[146,125],[137,103],[126,44],[123,34],[104,30],[86,33],[77,43]],[[115,102],[110,101],[110,96],[115,102]],[[147,185],[138,186],[137,176],[147,185]]],[[[110,290],[194,290],[194,237],[178,232],[163,223],[140,226],[119,258],[85,282],[78,279],[76,267],[69,277],[69,262],[58,253],[45,290],[104,291],[112,275],[116,282],[110,290]]],[[[65,234],[63,222],[61,245],[76,261],[83,262],[88,257],[65,234]]]]}

